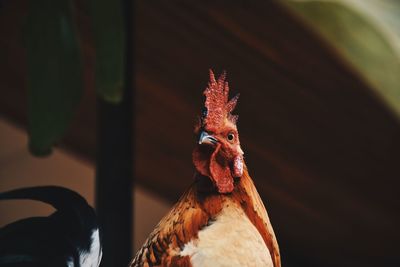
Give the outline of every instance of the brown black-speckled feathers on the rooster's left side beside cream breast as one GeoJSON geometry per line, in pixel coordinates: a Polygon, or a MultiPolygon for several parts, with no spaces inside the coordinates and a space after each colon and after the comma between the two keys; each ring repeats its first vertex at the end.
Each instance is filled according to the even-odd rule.
{"type": "Polygon", "coordinates": [[[130,266],[190,266],[176,265],[190,263],[184,259],[187,257],[181,257],[178,253],[185,243],[197,238],[198,231],[222,208],[219,195],[209,196],[200,201],[203,197],[201,190],[197,190],[197,185],[198,182],[193,183],[167,216],[159,222],[130,266]],[[152,254],[155,255],[154,259],[149,256],[152,254]]]}

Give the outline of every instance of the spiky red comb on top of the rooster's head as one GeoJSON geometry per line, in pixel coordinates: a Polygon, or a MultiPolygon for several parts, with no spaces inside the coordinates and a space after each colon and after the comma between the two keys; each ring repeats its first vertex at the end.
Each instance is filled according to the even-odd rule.
{"type": "Polygon", "coordinates": [[[210,82],[204,90],[206,112],[202,118],[203,125],[207,125],[207,127],[218,128],[224,123],[225,118],[236,125],[238,116],[232,115],[231,112],[236,106],[239,94],[228,101],[229,86],[225,78],[226,72],[224,71],[218,80],[215,80],[214,73],[210,70],[210,82]]]}

